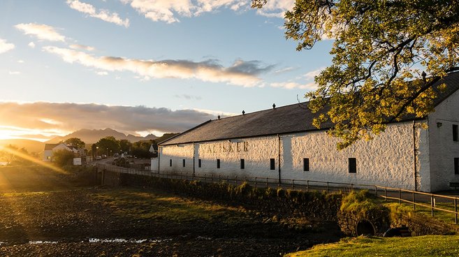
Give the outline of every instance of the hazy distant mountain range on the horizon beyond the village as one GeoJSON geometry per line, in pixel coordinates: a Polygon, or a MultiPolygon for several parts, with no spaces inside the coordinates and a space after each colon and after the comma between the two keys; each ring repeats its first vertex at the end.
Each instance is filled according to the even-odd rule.
{"type": "Polygon", "coordinates": [[[150,134],[145,137],[138,136],[138,135],[125,135],[124,133],[115,131],[115,129],[80,129],[79,131],[75,131],[68,135],[59,136],[48,140],[46,143],[48,144],[56,144],[61,142],[62,140],[66,140],[68,138],[80,138],[86,144],[94,144],[95,142],[99,141],[101,138],[105,138],[108,136],[112,136],[117,140],[126,139],[131,142],[137,142],[140,140],[154,140],[158,138],[156,135],[150,134]]]}

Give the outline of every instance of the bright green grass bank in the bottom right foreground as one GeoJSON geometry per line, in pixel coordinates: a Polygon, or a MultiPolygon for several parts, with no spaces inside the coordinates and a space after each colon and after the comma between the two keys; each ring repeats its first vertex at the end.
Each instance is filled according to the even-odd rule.
{"type": "Polygon", "coordinates": [[[286,256],[459,256],[458,235],[422,237],[354,237],[334,244],[319,244],[286,256]]]}

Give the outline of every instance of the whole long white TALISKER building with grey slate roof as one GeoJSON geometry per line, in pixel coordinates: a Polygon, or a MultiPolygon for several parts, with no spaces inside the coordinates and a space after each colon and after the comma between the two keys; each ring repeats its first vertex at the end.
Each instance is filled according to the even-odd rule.
{"type": "Polygon", "coordinates": [[[152,170],[448,190],[459,182],[459,73],[442,82],[435,112],[341,151],[326,134],[331,124],[316,129],[298,103],[204,122],[161,142],[152,170]]]}

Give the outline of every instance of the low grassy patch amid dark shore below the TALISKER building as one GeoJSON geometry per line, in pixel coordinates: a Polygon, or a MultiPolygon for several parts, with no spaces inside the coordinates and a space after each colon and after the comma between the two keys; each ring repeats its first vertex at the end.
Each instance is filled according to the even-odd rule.
{"type": "Polygon", "coordinates": [[[92,195],[94,203],[110,207],[116,215],[129,219],[167,219],[175,222],[225,221],[240,223],[249,219],[244,208],[182,198],[172,193],[145,189],[107,190],[92,195]]]}

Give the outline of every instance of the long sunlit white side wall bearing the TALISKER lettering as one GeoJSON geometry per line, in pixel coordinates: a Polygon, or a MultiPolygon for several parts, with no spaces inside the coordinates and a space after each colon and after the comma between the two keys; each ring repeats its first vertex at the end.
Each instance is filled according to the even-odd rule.
{"type": "MultiPolygon", "coordinates": [[[[419,123],[419,122],[418,122],[419,123]]],[[[418,190],[430,191],[428,133],[415,129],[418,190]]],[[[388,125],[386,131],[369,142],[356,142],[347,149],[336,149],[336,138],[323,131],[258,138],[220,140],[187,145],[162,146],[159,150],[161,171],[193,172],[214,177],[279,178],[279,152],[282,179],[304,179],[353,184],[378,184],[415,189],[413,124],[388,125]],[[279,147],[280,146],[280,147],[279,147]],[[303,158],[309,159],[309,171],[303,171],[303,158]],[[356,158],[357,172],[348,172],[348,159],[356,158]],[[172,159],[172,166],[170,166],[172,159]],[[182,160],[185,159],[185,167],[182,160]],[[198,160],[201,159],[201,168],[198,160]],[[220,159],[220,168],[217,168],[220,159]],[[240,169],[240,159],[245,169],[240,169]],[[275,170],[270,170],[275,159],[275,170]]],[[[296,182],[300,183],[300,182],[296,182]]]]}

